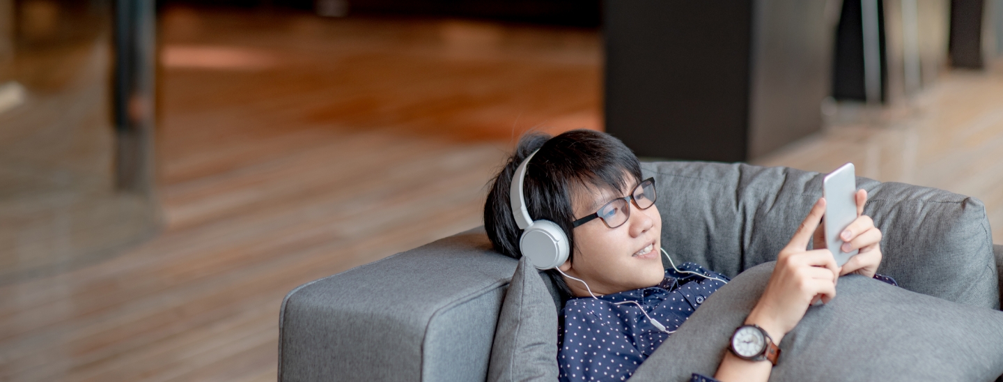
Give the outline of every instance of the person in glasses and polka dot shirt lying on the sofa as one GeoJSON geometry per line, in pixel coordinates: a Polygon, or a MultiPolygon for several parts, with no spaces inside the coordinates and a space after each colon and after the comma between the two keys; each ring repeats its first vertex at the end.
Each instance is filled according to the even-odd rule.
{"type": "MultiPolygon", "coordinates": [[[[693,263],[663,268],[654,182],[641,178],[640,161],[619,139],[592,130],[554,137],[531,133],[521,139],[484,206],[484,226],[495,251],[523,256],[523,230],[510,198],[519,189],[512,183],[524,162],[522,193],[531,219],[554,222],[570,243],[567,261],[548,271],[572,296],[561,314],[560,379],[626,380],[703,303],[703,296],[729,279],[693,263]]],[[[843,250],[860,254],[843,267],[823,247],[819,222],[825,201],[814,204],[777,254],[762,297],[736,329],[714,378],[693,374],[693,381],[766,381],[778,355],[775,344],[812,304],[835,296],[840,276],[858,274],[895,285],[876,275],[882,233],[862,215],[866,201],[867,192],[860,189],[858,219],[841,235],[843,250]],[[812,238],[814,249],[807,250],[812,238]]]]}

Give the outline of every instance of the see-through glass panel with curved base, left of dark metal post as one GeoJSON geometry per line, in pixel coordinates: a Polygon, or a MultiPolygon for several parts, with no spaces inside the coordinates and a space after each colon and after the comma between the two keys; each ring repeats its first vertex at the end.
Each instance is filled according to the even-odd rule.
{"type": "MultiPolygon", "coordinates": [[[[116,161],[151,150],[116,133],[112,11],[100,0],[0,0],[0,283],[155,232],[149,161],[116,161]],[[144,186],[122,186],[122,164],[144,186]]],[[[152,102],[133,103],[150,121],[152,102]]]]}

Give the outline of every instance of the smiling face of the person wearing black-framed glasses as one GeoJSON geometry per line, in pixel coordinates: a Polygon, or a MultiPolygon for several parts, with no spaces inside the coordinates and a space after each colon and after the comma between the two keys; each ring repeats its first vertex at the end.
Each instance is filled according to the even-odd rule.
{"type": "MultiPolygon", "coordinates": [[[[595,213],[613,199],[625,197],[635,185],[619,194],[594,189],[573,195],[575,219],[595,213]]],[[[574,262],[566,262],[561,271],[584,280],[597,295],[658,285],[665,276],[659,250],[662,218],[655,206],[640,210],[632,202],[629,209],[630,219],[615,229],[607,227],[601,219],[575,228],[574,262]]],[[[581,282],[568,278],[565,282],[575,295],[589,296],[581,282]]]]}

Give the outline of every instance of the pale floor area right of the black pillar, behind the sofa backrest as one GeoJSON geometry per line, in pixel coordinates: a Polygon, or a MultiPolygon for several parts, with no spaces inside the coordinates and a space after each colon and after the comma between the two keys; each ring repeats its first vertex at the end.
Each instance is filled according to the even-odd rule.
{"type": "Polygon", "coordinates": [[[753,162],[827,172],[853,161],[861,176],[975,197],[1003,243],[1003,60],[946,72],[908,105],[842,105],[829,124],[753,162]]]}

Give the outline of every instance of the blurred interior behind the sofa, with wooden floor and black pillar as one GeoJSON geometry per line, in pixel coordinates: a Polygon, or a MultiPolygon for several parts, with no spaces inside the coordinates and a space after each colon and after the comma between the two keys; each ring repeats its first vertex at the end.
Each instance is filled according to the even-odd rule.
{"type": "Polygon", "coordinates": [[[0,380],[275,380],[287,292],[573,128],[853,161],[1000,243],[1003,0],[0,0],[0,380]]]}

